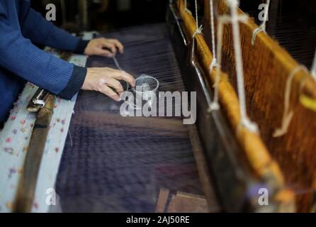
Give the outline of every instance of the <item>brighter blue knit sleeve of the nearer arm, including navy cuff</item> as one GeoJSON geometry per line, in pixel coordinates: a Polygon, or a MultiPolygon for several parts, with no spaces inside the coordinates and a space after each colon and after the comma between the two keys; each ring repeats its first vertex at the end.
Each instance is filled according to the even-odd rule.
{"type": "Polygon", "coordinates": [[[0,67],[64,99],[79,92],[86,77],[86,68],[60,60],[35,47],[12,28],[1,13],[0,4],[0,67]]]}

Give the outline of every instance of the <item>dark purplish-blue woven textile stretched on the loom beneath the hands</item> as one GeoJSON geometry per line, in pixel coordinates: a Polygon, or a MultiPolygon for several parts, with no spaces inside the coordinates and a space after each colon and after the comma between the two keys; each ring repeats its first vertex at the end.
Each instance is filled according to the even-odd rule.
{"type": "MultiPolygon", "coordinates": [[[[150,74],[159,91],[181,91],[181,74],[164,24],[109,33],[125,45],[123,70],[150,74]]],[[[88,67],[115,67],[89,57],[88,67]]],[[[62,211],[153,212],[159,189],[202,194],[181,118],[123,118],[120,103],[80,92],[69,128],[57,194],[62,211]]]]}

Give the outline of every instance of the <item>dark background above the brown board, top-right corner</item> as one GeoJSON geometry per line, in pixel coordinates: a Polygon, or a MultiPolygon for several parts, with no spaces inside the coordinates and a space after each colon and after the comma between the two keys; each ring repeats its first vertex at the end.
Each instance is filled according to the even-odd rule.
{"type": "MultiPolygon", "coordinates": [[[[240,0],[240,7],[260,24],[259,4],[266,0],[240,0]]],[[[310,68],[316,48],[316,0],[271,0],[269,35],[300,64],[310,68]]]]}

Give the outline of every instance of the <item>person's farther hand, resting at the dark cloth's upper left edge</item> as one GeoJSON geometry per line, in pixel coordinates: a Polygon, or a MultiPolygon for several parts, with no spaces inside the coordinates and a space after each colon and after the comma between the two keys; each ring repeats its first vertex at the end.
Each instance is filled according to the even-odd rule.
{"type": "Polygon", "coordinates": [[[111,38],[96,38],[88,43],[84,54],[89,56],[115,57],[117,50],[120,53],[124,51],[124,47],[120,41],[111,38]]]}

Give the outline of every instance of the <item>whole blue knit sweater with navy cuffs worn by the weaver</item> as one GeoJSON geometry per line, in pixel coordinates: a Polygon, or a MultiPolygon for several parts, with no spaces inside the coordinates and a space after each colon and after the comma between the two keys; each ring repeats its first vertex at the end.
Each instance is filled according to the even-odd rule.
{"type": "Polygon", "coordinates": [[[0,0],[0,123],[26,81],[71,99],[81,89],[86,68],[60,60],[35,46],[84,52],[87,43],[43,18],[30,0],[0,0]]]}

